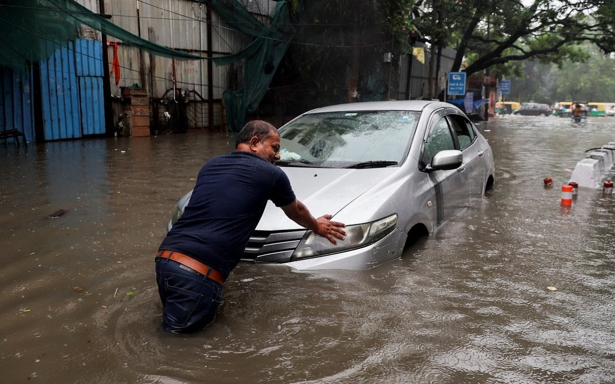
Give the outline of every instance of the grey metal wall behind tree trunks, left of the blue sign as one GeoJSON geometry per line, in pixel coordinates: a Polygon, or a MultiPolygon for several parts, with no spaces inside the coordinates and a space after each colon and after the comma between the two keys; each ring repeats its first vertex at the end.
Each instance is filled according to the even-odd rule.
{"type": "MultiPolygon", "coordinates": [[[[425,49],[425,63],[421,64],[412,55],[404,55],[400,59],[399,65],[399,84],[397,85],[397,100],[416,100],[427,96],[427,87],[429,85],[429,49],[423,43],[417,43],[416,47],[425,49]],[[408,61],[412,60],[412,73],[410,74],[410,97],[407,98],[408,87],[408,61]]],[[[442,57],[440,58],[440,72],[438,78],[446,78],[451,70],[455,58],[456,50],[444,48],[442,57]]],[[[440,82],[440,90],[445,87],[445,84],[440,82]]],[[[437,97],[438,95],[434,95],[437,97]]]]}

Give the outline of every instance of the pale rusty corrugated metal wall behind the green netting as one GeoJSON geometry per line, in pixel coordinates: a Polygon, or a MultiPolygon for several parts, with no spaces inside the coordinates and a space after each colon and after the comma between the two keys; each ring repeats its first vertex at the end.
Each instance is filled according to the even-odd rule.
{"type": "MultiPolygon", "coordinates": [[[[242,0],[248,10],[269,15],[276,7],[271,0],[242,0]]],[[[205,2],[190,0],[149,0],[148,2],[105,0],[105,12],[111,21],[143,39],[157,44],[207,55],[207,9],[205,2]],[[138,8],[137,8],[138,7],[138,8]]],[[[264,18],[267,19],[266,17],[264,18]]],[[[108,38],[114,41],[113,37],[108,38]]],[[[212,12],[212,52],[214,56],[238,52],[252,39],[243,36],[221,22],[212,12]]],[[[108,48],[109,60],[113,47],[108,48]]],[[[137,49],[120,46],[118,49],[122,76],[119,84],[111,84],[111,93],[120,95],[119,87],[135,83],[148,89],[151,97],[160,97],[173,88],[173,63],[169,58],[143,54],[137,49]],[[140,76],[140,71],[145,76],[140,76]]],[[[176,61],[175,86],[196,90],[207,97],[207,60],[176,61]]],[[[213,65],[213,98],[219,99],[227,88],[228,66],[213,65]]]]}

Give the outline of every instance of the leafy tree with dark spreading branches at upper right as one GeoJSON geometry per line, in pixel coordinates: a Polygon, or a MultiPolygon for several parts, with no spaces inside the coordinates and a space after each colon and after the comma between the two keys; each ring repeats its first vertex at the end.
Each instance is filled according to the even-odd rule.
{"type": "Polygon", "coordinates": [[[582,61],[587,57],[579,47],[582,42],[593,42],[603,52],[615,51],[611,0],[533,0],[528,5],[520,0],[410,2],[424,41],[437,45],[445,39],[456,47],[451,71],[458,71],[464,59],[469,75],[494,66],[500,73],[510,72],[515,66],[506,65],[530,58],[543,63],[582,61]]]}

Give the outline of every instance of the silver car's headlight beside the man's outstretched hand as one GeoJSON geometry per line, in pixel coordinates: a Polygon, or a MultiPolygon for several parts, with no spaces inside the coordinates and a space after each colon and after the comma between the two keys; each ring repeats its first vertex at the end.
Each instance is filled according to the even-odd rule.
{"type": "Polygon", "coordinates": [[[348,225],[344,228],[346,238],[339,240],[338,245],[333,245],[324,237],[308,231],[295,249],[295,253],[290,257],[291,261],[307,259],[308,257],[322,256],[329,253],[348,251],[349,249],[361,248],[371,243],[375,243],[385,237],[397,225],[397,214],[384,217],[365,224],[348,225]]]}

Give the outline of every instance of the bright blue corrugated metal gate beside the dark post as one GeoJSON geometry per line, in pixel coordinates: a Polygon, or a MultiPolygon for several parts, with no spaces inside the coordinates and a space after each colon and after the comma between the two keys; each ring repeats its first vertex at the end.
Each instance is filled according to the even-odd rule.
{"type": "Polygon", "coordinates": [[[44,139],[105,133],[102,45],[79,39],[41,61],[44,139]]]}

